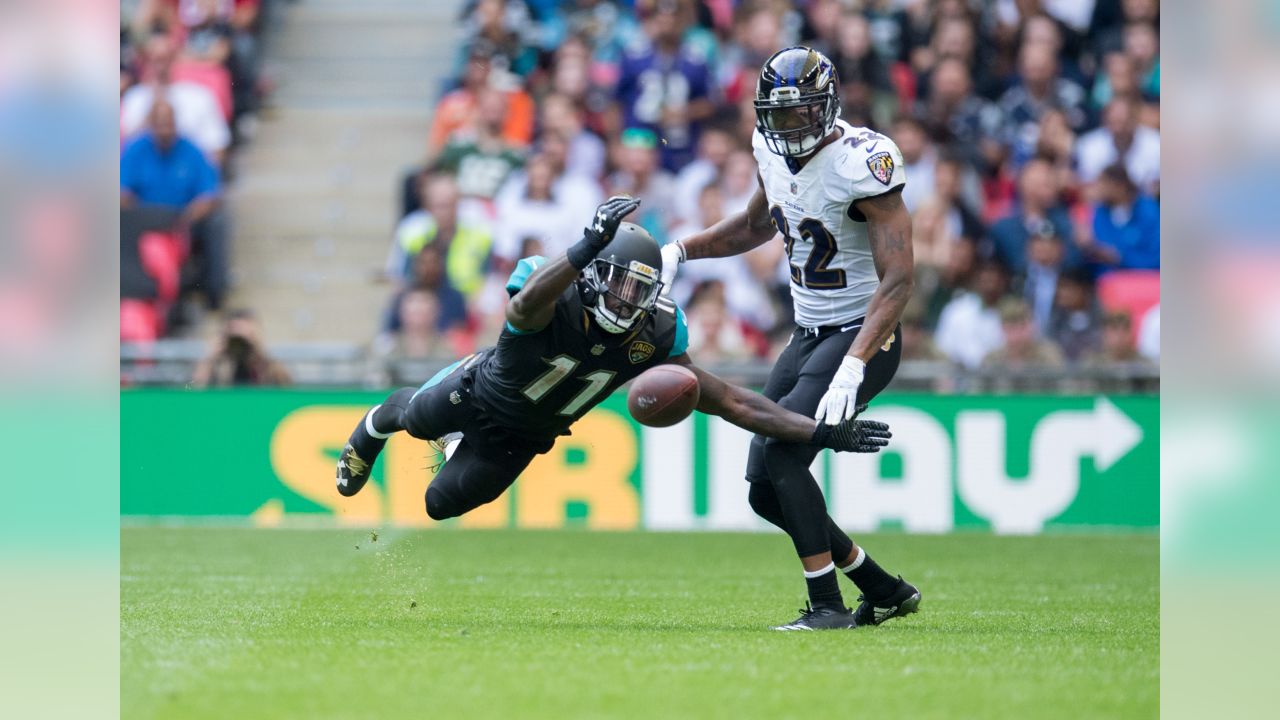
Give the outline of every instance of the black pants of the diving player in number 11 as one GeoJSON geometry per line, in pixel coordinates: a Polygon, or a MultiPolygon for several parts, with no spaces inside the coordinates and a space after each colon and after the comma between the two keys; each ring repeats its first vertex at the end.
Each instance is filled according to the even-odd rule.
{"type": "Polygon", "coordinates": [[[471,374],[465,365],[454,363],[417,391],[396,391],[374,419],[380,432],[394,425],[419,439],[463,434],[426,488],[426,514],[433,520],[457,518],[498,500],[543,450],[521,442],[494,442],[500,432],[485,427],[483,413],[472,404],[471,374]]]}

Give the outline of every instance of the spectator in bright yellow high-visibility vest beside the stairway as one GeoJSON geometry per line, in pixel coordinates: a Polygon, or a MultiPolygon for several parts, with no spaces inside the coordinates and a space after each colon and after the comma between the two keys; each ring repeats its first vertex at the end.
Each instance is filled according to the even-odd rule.
{"type": "Polygon", "coordinates": [[[449,283],[472,297],[484,286],[493,233],[471,214],[460,213],[458,186],[449,176],[429,176],[421,184],[422,208],[396,227],[387,258],[387,275],[397,283],[412,279],[412,258],[428,246],[440,247],[449,283]]]}

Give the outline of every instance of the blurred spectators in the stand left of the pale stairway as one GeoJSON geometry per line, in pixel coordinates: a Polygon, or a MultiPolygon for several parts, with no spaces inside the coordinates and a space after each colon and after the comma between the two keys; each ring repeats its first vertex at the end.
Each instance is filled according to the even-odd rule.
{"type": "Polygon", "coordinates": [[[120,5],[120,340],[148,341],[220,310],[233,152],[262,95],[270,0],[120,5]]]}

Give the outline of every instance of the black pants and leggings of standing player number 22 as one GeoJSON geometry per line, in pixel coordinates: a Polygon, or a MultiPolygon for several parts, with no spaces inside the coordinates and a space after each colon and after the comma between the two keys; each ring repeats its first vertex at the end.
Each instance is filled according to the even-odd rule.
{"type": "MultiPolygon", "coordinates": [[[[858,337],[861,320],[824,328],[796,328],[786,350],[778,356],[764,386],[764,396],[778,405],[813,418],[818,401],[827,393],[836,370],[858,337]]],[[[893,332],[887,348],[869,363],[858,388],[858,404],[865,405],[879,395],[901,360],[901,328],[893,332]]],[[[852,541],[827,514],[827,501],[809,465],[819,448],[755,436],[746,460],[746,479],[751,483],[748,500],[760,518],[782,528],[800,557],[829,551],[837,562],[852,551],[852,541]]]]}

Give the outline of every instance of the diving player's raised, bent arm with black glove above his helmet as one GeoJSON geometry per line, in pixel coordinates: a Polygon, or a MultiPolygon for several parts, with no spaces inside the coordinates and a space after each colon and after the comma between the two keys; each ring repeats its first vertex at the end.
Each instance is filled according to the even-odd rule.
{"type": "Polygon", "coordinates": [[[522,332],[540,331],[550,324],[556,316],[556,301],[577,279],[582,268],[613,240],[622,218],[639,206],[640,201],[635,197],[614,195],[596,208],[595,219],[582,231],[582,240],[534,270],[525,287],[507,302],[507,323],[522,332]]]}

